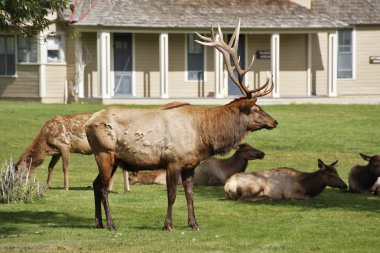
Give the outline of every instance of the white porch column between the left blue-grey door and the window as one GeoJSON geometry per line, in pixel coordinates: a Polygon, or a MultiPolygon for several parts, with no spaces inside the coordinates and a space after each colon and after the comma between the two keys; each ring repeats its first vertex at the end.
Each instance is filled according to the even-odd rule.
{"type": "Polygon", "coordinates": [[[169,36],[167,33],[160,34],[160,87],[161,98],[169,98],[169,36]]]}

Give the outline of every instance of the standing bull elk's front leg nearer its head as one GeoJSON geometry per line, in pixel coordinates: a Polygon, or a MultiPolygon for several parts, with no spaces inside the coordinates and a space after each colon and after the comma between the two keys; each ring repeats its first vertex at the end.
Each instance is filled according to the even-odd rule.
{"type": "Polygon", "coordinates": [[[194,205],[193,205],[194,169],[182,170],[181,177],[182,177],[183,188],[185,189],[185,196],[186,196],[186,202],[187,202],[188,225],[193,230],[200,230],[200,227],[198,226],[197,221],[195,220],[194,205]]]}

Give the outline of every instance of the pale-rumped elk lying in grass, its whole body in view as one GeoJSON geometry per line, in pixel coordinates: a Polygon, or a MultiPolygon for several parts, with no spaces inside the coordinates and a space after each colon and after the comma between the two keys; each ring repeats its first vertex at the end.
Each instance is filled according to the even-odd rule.
{"type": "Polygon", "coordinates": [[[224,191],[234,200],[308,199],[319,195],[326,186],[347,188],[335,169],[338,161],[325,165],[318,159],[319,170],[313,173],[292,168],[276,168],[230,177],[224,191]]]}

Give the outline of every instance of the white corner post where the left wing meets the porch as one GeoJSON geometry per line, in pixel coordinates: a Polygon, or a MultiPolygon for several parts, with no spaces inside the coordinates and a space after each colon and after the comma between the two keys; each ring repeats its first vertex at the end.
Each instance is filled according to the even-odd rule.
{"type": "Polygon", "coordinates": [[[84,98],[84,68],[86,66],[83,59],[82,38],[75,39],[75,85],[78,88],[78,97],[84,98]]]}

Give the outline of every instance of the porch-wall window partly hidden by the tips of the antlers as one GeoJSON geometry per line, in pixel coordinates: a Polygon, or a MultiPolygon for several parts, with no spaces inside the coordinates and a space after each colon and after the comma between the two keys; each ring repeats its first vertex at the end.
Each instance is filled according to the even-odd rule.
{"type": "Polygon", "coordinates": [[[194,34],[187,35],[187,80],[203,81],[204,47],[194,39],[194,34]]]}

